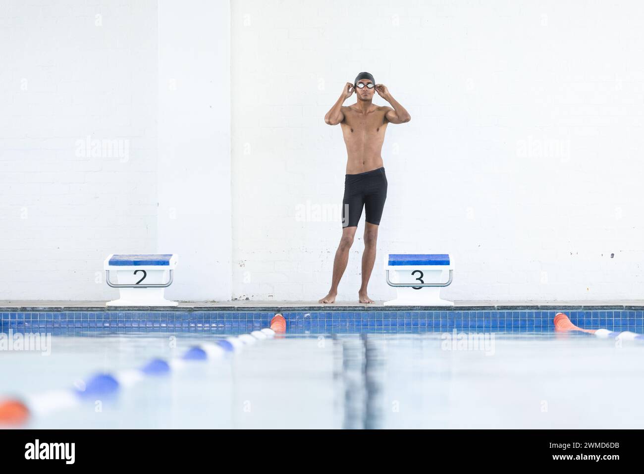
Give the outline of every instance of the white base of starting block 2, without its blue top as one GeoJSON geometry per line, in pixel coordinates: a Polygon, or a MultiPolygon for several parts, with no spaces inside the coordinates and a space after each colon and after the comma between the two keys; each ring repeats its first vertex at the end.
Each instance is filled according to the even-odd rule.
{"type": "Polygon", "coordinates": [[[128,287],[118,288],[120,298],[108,301],[106,306],[177,306],[179,304],[177,301],[166,299],[164,294],[166,288],[146,287],[146,285],[164,285],[169,281],[170,270],[174,270],[176,266],[176,256],[173,255],[169,259],[169,265],[140,265],[141,260],[137,259],[137,257],[147,257],[153,260],[154,256],[132,256],[133,260],[137,260],[137,265],[110,265],[111,257],[109,256],[105,261],[105,269],[109,270],[111,283],[128,285],[128,287]]]}

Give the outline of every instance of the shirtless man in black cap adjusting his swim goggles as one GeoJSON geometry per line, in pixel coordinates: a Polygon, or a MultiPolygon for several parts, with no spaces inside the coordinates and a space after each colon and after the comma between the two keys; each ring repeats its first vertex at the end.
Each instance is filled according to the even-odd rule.
{"type": "Polygon", "coordinates": [[[374,76],[361,72],[353,84],[347,82],[345,90],[336,104],[327,112],[324,121],[329,125],[341,124],[345,137],[346,175],[345,196],[342,202],[342,238],[333,262],[333,278],[327,296],[318,303],[334,303],[337,285],[340,283],[349,260],[349,249],[354,243],[355,231],[365,207],[365,252],[362,258],[362,285],[358,290],[360,303],[373,303],[366,292],[375,262],[375,242],[378,225],[383,215],[384,200],[387,197],[387,178],[384,175],[383,149],[384,132],[387,124],[403,124],[412,117],[401,104],[393,99],[383,84],[376,84],[374,76]],[[357,102],[343,106],[343,102],[357,95],[357,102]],[[374,92],[389,102],[392,107],[372,104],[374,92]]]}

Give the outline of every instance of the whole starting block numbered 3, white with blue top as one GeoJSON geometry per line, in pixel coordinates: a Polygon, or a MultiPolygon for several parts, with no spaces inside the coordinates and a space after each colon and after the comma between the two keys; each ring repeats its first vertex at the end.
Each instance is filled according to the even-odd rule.
{"type": "Polygon", "coordinates": [[[453,306],[453,301],[440,298],[440,289],[451,285],[453,272],[448,254],[386,254],[384,273],[398,298],[385,301],[384,305],[453,306]]]}

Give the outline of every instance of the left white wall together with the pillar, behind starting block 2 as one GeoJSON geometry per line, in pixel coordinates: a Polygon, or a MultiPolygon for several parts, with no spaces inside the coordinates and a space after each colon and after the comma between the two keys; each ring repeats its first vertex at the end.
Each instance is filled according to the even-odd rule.
{"type": "Polygon", "coordinates": [[[230,297],[229,15],[3,2],[0,299],[113,299],[120,252],[178,253],[169,298],[230,297]]]}

